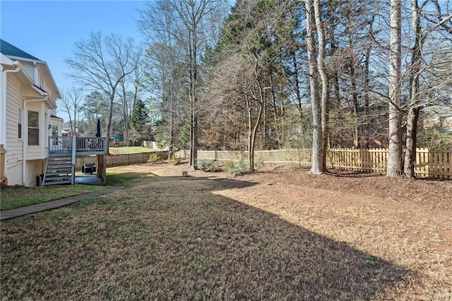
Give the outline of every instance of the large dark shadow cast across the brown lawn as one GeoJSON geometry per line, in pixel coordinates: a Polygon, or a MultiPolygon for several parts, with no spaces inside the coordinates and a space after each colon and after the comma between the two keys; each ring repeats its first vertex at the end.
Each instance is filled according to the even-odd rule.
{"type": "Polygon", "coordinates": [[[252,185],[234,179],[149,177],[135,191],[118,191],[114,211],[95,208],[95,217],[65,216],[59,228],[36,218],[35,227],[28,227],[27,219],[5,223],[2,297],[371,300],[384,297],[408,275],[345,242],[214,193],[252,185]],[[90,230],[77,230],[82,225],[90,230]],[[20,233],[18,227],[26,230],[20,233]],[[36,243],[48,253],[33,254],[36,243]],[[65,244],[70,248],[61,252],[65,244]],[[52,253],[59,254],[51,259],[57,263],[49,263],[52,253]],[[41,256],[47,266],[39,268],[41,256]],[[23,270],[30,260],[35,268],[27,274],[23,270]],[[14,273],[20,280],[15,271],[31,283],[25,295],[8,277],[14,273]],[[45,279],[40,290],[33,279],[45,279]],[[49,285],[52,292],[46,290],[49,285]]]}

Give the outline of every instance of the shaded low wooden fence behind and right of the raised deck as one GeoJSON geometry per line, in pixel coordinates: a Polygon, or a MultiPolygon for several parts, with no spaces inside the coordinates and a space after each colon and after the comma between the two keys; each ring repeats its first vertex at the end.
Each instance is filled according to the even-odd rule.
{"type": "MultiPolygon", "coordinates": [[[[149,153],[126,153],[121,155],[106,155],[105,165],[106,167],[132,165],[132,164],[142,164],[148,163],[149,157],[151,155],[157,155],[160,160],[167,160],[168,151],[154,151],[149,153]]],[[[82,165],[86,163],[96,163],[96,156],[87,156],[82,158],[77,158],[76,170],[81,170],[82,165]]],[[[97,164],[98,165],[98,164],[97,164]]]]}

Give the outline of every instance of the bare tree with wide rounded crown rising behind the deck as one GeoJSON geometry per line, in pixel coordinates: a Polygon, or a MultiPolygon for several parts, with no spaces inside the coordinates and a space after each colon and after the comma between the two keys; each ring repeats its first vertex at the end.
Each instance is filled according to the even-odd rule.
{"type": "Polygon", "coordinates": [[[108,95],[107,138],[110,138],[112,130],[113,104],[118,85],[136,68],[131,64],[133,49],[131,37],[113,34],[103,37],[99,32],[91,33],[88,40],[75,43],[73,57],[65,60],[71,68],[68,76],[83,87],[100,90],[108,95]]]}

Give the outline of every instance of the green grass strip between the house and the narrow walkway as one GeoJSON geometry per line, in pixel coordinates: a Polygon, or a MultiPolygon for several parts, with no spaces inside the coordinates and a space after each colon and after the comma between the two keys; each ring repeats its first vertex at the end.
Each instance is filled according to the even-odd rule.
{"type": "Polygon", "coordinates": [[[107,189],[105,186],[64,185],[54,187],[5,187],[0,191],[0,210],[9,210],[68,196],[107,189]]]}

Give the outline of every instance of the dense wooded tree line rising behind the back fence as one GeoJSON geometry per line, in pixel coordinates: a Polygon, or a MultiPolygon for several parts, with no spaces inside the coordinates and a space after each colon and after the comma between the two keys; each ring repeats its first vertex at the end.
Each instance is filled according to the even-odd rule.
{"type": "MultiPolygon", "coordinates": [[[[252,171],[256,148],[312,147],[311,172],[320,173],[328,147],[389,147],[388,175],[412,176],[412,151],[432,138],[421,113],[452,105],[451,8],[440,0],[148,1],[138,20],[143,61],[116,54],[111,74],[97,71],[102,81],[82,78],[80,58],[68,63],[109,96],[109,129],[121,84],[136,85],[123,99],[148,93],[155,140],[189,148],[192,167],[197,148],[249,150],[252,171]]],[[[76,46],[86,49],[83,65],[101,60],[90,58],[98,49],[76,46]]]]}

